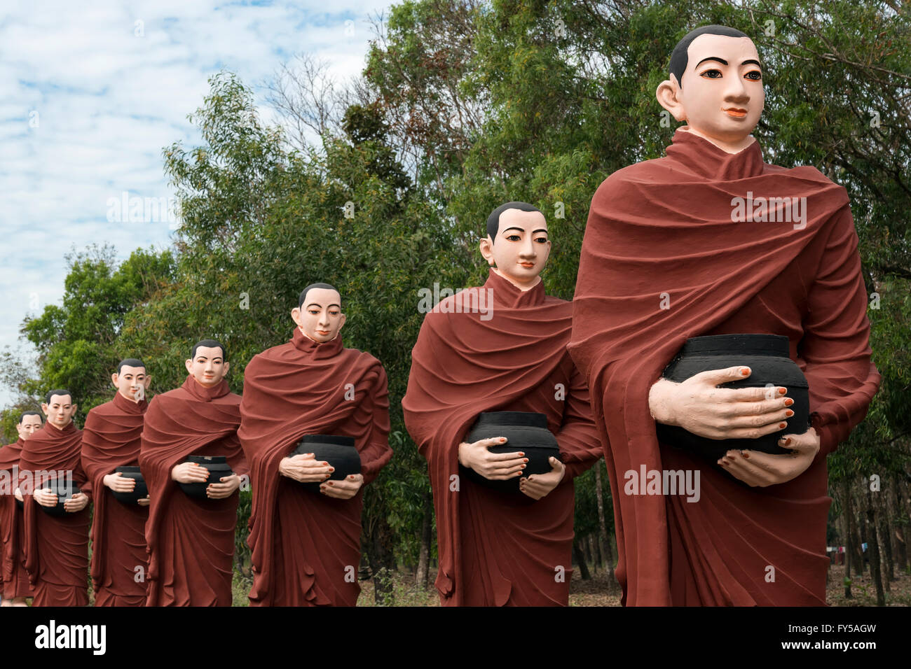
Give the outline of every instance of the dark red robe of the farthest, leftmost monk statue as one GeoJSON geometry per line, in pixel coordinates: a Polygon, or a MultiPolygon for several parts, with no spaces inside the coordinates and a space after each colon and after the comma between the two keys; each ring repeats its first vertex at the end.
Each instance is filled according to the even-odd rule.
{"type": "MultiPolygon", "coordinates": [[[[3,471],[8,490],[0,490],[0,581],[3,598],[31,597],[32,584],[28,582],[25,553],[23,552],[25,519],[22,509],[15,503],[13,491],[18,482],[19,458],[25,441],[20,437],[15,443],[0,448],[0,471],[3,471]]],[[[6,488],[6,486],[4,486],[6,488]]]]}

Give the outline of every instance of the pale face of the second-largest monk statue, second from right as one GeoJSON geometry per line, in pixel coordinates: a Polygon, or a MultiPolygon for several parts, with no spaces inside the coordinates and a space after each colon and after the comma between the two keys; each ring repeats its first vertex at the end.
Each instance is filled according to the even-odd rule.
{"type": "Polygon", "coordinates": [[[496,269],[517,283],[537,277],[548,264],[550,240],[548,222],[539,211],[507,209],[500,214],[496,239],[481,240],[481,254],[496,269]]]}

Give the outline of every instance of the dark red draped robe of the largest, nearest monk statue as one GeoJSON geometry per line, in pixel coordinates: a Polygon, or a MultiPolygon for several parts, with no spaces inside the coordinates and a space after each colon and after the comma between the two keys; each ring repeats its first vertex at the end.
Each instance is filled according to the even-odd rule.
{"type": "Polygon", "coordinates": [[[728,154],[678,130],[667,157],[601,184],[573,304],[569,350],[609,446],[624,603],[823,605],[825,456],[863,420],[879,384],[844,188],[814,167],[764,164],[756,143],[728,154]],[[736,198],[748,194],[754,205],[806,198],[805,228],[784,219],[781,201],[781,222],[735,221],[736,198]],[[791,340],[821,435],[809,469],[765,488],[659,444],[648,401],[688,338],[752,332],[791,340]],[[625,494],[625,472],[641,465],[699,470],[700,501],[625,494]]]}

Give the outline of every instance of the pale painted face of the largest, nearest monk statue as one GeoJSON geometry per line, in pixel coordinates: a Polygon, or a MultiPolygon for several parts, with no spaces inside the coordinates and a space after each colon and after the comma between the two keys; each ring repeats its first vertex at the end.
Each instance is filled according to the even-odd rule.
{"type": "Polygon", "coordinates": [[[740,142],[763,115],[762,68],[749,37],[696,37],[687,51],[681,83],[682,90],[677,92],[681,117],[677,120],[686,119],[706,137],[740,142]]]}

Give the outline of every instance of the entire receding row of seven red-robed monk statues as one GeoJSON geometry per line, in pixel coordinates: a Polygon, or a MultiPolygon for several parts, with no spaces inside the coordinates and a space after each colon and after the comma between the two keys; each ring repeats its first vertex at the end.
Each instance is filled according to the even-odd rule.
{"type": "MultiPolygon", "coordinates": [[[[507,202],[479,244],[484,285],[425,316],[402,408],[428,464],[444,605],[567,604],[573,480],[602,455],[623,603],[825,603],[825,456],[879,385],[848,199],[813,167],[763,162],[762,66],[740,31],[686,35],[657,96],[687,126],[595,193],[572,301],[540,278],[544,214],[507,202]],[[736,356],[668,378],[681,351],[742,335],[778,336],[808,415],[800,384],[760,383],[736,356]],[[652,472],[694,473],[699,490],[652,472]]],[[[68,390],[47,393],[44,426],[23,414],[0,449],[0,473],[17,468],[0,496],[4,603],[85,605],[90,571],[97,605],[230,605],[246,484],[250,603],[356,603],[363,489],[392,458],[386,374],[343,347],[332,285],[303,289],[291,318],[242,396],[224,344],[201,340],[184,383],[151,400],[142,361],[121,361],[82,431],[68,390]],[[51,484],[61,472],[75,488],[51,484]],[[118,498],[140,484],[148,495],[118,498]]]]}

